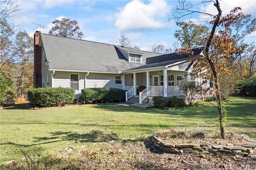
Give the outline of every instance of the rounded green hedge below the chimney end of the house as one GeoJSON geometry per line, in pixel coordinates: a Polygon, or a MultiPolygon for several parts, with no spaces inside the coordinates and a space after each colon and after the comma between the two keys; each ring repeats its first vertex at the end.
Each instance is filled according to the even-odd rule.
{"type": "Polygon", "coordinates": [[[28,100],[38,107],[65,106],[73,103],[75,91],[71,88],[34,88],[28,90],[28,100]]]}

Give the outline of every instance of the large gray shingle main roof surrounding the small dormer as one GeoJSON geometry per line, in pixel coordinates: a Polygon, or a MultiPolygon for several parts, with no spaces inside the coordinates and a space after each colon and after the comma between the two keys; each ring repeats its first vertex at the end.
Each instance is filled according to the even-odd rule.
{"type": "Polygon", "coordinates": [[[145,65],[142,63],[129,63],[119,52],[123,48],[129,52],[143,53],[142,61],[159,54],[124,48],[114,45],[97,43],[93,41],[64,38],[41,33],[41,39],[49,62],[49,69],[120,72],[134,67],[145,65]],[[52,58],[52,60],[51,60],[52,58]]]}

